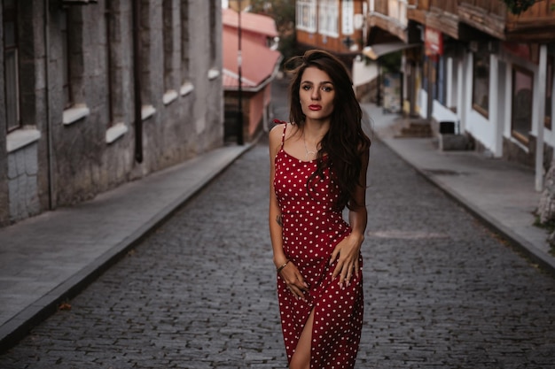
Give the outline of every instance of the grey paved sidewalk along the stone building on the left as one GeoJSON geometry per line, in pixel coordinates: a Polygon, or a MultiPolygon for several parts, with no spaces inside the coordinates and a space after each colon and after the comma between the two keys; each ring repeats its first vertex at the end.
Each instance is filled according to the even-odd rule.
{"type": "Polygon", "coordinates": [[[251,147],[225,146],[90,202],[0,228],[0,352],[78,294],[251,147]]]}

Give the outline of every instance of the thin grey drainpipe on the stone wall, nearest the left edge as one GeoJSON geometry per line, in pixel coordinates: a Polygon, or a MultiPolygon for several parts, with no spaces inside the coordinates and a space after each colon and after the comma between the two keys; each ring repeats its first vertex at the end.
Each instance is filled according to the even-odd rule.
{"type": "Polygon", "coordinates": [[[44,106],[45,116],[46,116],[46,175],[48,177],[48,209],[53,210],[56,204],[54,204],[54,159],[52,158],[52,132],[51,132],[51,101],[50,101],[50,37],[49,37],[49,23],[50,23],[50,1],[44,0],[44,100],[46,102],[44,106]]]}

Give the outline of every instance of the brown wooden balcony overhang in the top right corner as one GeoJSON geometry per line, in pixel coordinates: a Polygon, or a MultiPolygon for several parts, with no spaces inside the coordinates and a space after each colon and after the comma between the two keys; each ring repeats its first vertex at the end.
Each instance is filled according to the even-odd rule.
{"type": "Polygon", "coordinates": [[[552,42],[555,40],[555,0],[542,0],[520,15],[509,12],[500,1],[458,0],[461,22],[512,42],[552,42]]]}

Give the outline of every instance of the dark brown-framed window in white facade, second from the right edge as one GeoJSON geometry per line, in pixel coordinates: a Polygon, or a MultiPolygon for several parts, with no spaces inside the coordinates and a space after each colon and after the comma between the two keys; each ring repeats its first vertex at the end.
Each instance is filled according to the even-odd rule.
{"type": "Polygon", "coordinates": [[[512,69],[512,136],[528,143],[528,133],[532,129],[532,88],[534,73],[520,67],[512,69]]]}

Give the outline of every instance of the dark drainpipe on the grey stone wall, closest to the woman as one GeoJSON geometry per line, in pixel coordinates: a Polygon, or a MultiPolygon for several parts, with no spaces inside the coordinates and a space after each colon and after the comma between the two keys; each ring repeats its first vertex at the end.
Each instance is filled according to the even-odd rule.
{"type": "Polygon", "coordinates": [[[133,85],[135,89],[135,160],[143,162],[143,102],[141,101],[141,0],[134,0],[133,7],[133,85]]]}

